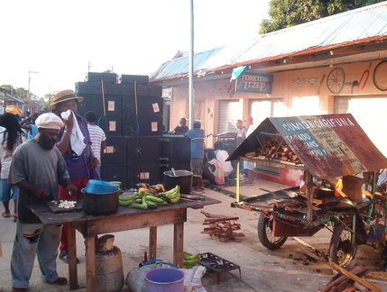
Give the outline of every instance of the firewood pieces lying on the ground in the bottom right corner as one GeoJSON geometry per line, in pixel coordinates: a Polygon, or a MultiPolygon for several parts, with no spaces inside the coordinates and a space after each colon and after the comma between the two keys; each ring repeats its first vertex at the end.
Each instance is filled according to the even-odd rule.
{"type": "MultiPolygon", "coordinates": [[[[349,265],[348,265],[349,266],[349,265]]],[[[350,291],[378,291],[382,289],[374,286],[372,283],[365,280],[364,276],[369,273],[369,269],[355,267],[355,264],[346,269],[339,267],[335,263],[333,269],[338,271],[338,274],[332,278],[322,292],[350,292],[350,291]]]]}

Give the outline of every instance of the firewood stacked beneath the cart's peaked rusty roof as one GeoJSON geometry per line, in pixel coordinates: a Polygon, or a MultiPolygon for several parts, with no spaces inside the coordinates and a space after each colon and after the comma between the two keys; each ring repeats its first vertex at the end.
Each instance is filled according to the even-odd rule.
{"type": "Polygon", "coordinates": [[[301,163],[299,157],[291,151],[290,147],[283,141],[281,136],[273,136],[271,139],[262,142],[262,148],[255,152],[246,153],[247,157],[265,157],[271,160],[290,161],[301,163]]]}

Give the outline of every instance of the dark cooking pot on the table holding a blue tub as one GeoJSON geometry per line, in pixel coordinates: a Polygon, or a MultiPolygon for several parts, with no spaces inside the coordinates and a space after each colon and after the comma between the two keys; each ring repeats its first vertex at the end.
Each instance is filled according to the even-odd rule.
{"type": "Polygon", "coordinates": [[[83,188],[82,210],[95,215],[114,213],[118,209],[119,190],[119,187],[116,187],[115,192],[93,194],[83,188]]]}

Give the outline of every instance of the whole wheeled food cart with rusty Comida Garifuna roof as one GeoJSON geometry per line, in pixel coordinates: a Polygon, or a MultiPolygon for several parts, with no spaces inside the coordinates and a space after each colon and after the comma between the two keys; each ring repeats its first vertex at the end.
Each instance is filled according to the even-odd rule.
{"type": "MultiPolygon", "coordinates": [[[[352,114],[267,118],[228,160],[237,160],[237,173],[241,160],[303,173],[304,187],[268,191],[244,201],[237,178],[232,206],[261,212],[258,237],[271,250],[280,248],[288,236],[312,236],[333,225],[330,261],[344,266],[355,257],[357,245],[366,242],[361,237],[367,235],[362,216],[372,218],[375,196],[378,202],[384,198],[375,195],[374,186],[387,159],[352,114]],[[356,176],[362,173],[360,177],[370,180],[356,176]],[[332,183],[336,178],[342,178],[342,189],[332,183]],[[364,183],[367,190],[362,189],[364,183]]],[[[383,214],[376,218],[377,226],[383,214]]]]}

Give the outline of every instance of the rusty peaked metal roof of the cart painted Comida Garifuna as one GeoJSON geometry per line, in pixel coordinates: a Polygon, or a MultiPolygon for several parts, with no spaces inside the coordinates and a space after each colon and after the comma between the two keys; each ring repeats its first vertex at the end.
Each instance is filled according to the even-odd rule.
{"type": "MultiPolygon", "coordinates": [[[[336,178],[387,168],[387,159],[352,114],[267,118],[228,160],[243,160],[246,153],[253,151],[262,153],[263,141],[272,139],[272,135],[281,136],[314,178],[336,178]]],[[[260,161],[258,157],[256,161],[260,161]]]]}

